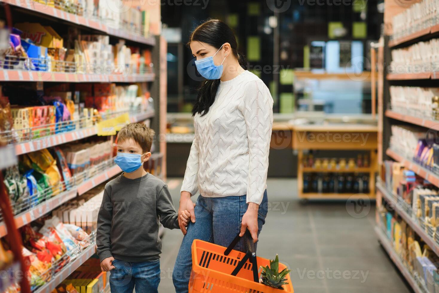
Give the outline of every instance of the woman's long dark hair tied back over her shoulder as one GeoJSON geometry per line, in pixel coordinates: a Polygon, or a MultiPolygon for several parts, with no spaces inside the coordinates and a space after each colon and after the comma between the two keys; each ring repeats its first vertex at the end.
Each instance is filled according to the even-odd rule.
{"type": "MultiPolygon", "coordinates": [[[[241,66],[244,64],[244,58],[238,54],[236,38],[233,31],[228,25],[219,19],[210,19],[205,21],[191,33],[187,46],[190,46],[192,41],[199,41],[219,49],[224,43],[230,43],[232,54],[238,59],[241,66]]],[[[216,90],[219,86],[219,79],[208,79],[203,82],[198,89],[197,101],[192,109],[192,116],[199,113],[204,116],[209,112],[210,106],[215,101],[216,90]]]]}

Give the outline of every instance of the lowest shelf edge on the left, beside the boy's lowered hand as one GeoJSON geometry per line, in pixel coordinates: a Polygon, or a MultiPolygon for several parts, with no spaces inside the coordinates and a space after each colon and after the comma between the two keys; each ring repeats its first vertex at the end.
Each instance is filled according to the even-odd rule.
{"type": "Polygon", "coordinates": [[[56,288],[62,281],[64,281],[72,272],[81,266],[86,260],[88,260],[96,252],[96,245],[90,244],[89,247],[83,250],[75,260],[69,262],[61,269],[49,282],[38,288],[34,293],[50,293],[56,288]]]}

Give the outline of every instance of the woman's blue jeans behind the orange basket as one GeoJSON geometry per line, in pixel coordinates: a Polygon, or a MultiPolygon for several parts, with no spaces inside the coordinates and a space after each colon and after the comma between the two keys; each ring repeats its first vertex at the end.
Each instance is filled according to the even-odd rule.
{"type": "MultiPolygon", "coordinates": [[[[176,293],[189,291],[189,278],[192,269],[192,242],[200,239],[224,247],[229,246],[232,240],[241,231],[241,219],[248,204],[246,196],[231,197],[198,197],[195,206],[195,223],[189,222],[187,233],[178,251],[172,279],[176,293]]],[[[267,191],[258,211],[258,237],[268,211],[267,191]]],[[[244,237],[236,244],[235,250],[246,252],[244,237]]],[[[256,245],[255,245],[256,248],[256,245]]]]}

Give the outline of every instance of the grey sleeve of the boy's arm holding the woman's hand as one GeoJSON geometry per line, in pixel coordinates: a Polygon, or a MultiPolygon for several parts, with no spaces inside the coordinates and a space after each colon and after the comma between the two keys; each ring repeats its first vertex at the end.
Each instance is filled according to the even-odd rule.
{"type": "Polygon", "coordinates": [[[175,211],[171,194],[168,186],[165,185],[160,190],[156,202],[157,214],[163,227],[168,229],[178,229],[178,213],[175,211]]]}

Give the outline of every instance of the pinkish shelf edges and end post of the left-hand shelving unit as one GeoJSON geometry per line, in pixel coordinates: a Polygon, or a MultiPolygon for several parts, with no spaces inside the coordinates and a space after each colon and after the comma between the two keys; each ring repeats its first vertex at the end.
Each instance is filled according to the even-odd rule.
{"type": "MultiPolygon", "coordinates": [[[[151,83],[149,91],[154,100],[154,104],[148,108],[146,112],[123,112],[111,113],[122,115],[129,114],[130,122],[143,122],[150,119],[150,127],[154,129],[157,139],[161,133],[166,130],[166,41],[161,36],[144,37],[137,35],[131,31],[123,29],[114,29],[106,23],[98,19],[90,19],[85,16],[68,13],[50,7],[50,5],[38,3],[32,0],[0,0],[0,4],[11,4],[13,6],[12,14],[24,13],[31,14],[34,18],[44,18],[56,22],[57,25],[66,27],[76,27],[92,34],[101,34],[111,36],[112,40],[123,39],[128,41],[129,45],[138,46],[140,48],[150,48],[152,56],[153,71],[148,68],[144,74],[96,74],[96,73],[76,73],[76,72],[48,72],[48,71],[27,71],[14,69],[4,69],[3,64],[0,69],[0,82],[117,82],[117,83],[151,83]]],[[[148,4],[150,5],[150,4],[148,4]]],[[[149,7],[147,5],[147,7],[149,7]]],[[[157,2],[159,6],[159,2],[157,2]]],[[[150,5],[151,6],[151,5],[150,5]]],[[[140,71],[141,72],[141,71],[140,71]]],[[[105,113],[102,118],[107,117],[105,113]],[[105,117],[104,117],[105,116],[105,117]]],[[[97,122],[99,123],[99,122],[97,122]]],[[[29,129],[31,135],[26,136],[27,139],[14,139],[6,146],[0,146],[0,172],[2,169],[17,164],[17,156],[27,154],[36,150],[42,150],[51,146],[62,145],[65,143],[75,142],[79,139],[98,135],[99,125],[95,123],[93,126],[86,128],[76,127],[73,131],[45,134],[46,136],[36,139],[32,138],[32,129],[29,129]]],[[[82,124],[81,124],[82,125],[82,124]]],[[[155,157],[162,157],[162,176],[166,178],[166,142],[155,141],[155,157]]],[[[106,182],[122,170],[114,164],[114,158],[103,162],[100,168],[95,165],[84,172],[72,176],[72,180],[67,185],[63,182],[61,191],[58,194],[49,194],[48,197],[42,197],[42,200],[35,206],[20,207],[16,209],[11,221],[18,229],[30,222],[50,213],[55,208],[67,203],[69,200],[86,193],[88,190],[106,182]]],[[[3,181],[3,179],[1,180],[3,181]]],[[[52,188],[52,187],[50,187],[52,188]]],[[[58,189],[57,186],[55,188],[58,189]]],[[[39,196],[40,192],[37,194],[39,196]]],[[[42,192],[43,194],[43,192],[42,192]]],[[[30,202],[30,201],[29,201],[30,202]]],[[[7,220],[7,218],[5,218],[7,220]]],[[[7,221],[6,221],[7,222],[7,221]]],[[[8,226],[9,227],[9,226],[8,226]]],[[[7,229],[6,223],[0,219],[0,237],[17,234],[17,231],[7,229]],[[11,232],[14,231],[14,232],[11,232]]],[[[162,229],[160,233],[162,234],[162,229]]],[[[94,233],[95,235],[95,233],[94,233]]],[[[21,241],[21,240],[20,240],[21,241]]],[[[19,242],[17,242],[19,244],[19,242]]],[[[17,249],[20,246],[17,245],[17,249]]],[[[43,286],[32,291],[33,293],[50,293],[56,286],[75,271],[81,264],[89,259],[96,252],[95,237],[89,245],[79,251],[78,255],[71,258],[71,261],[65,264],[59,271],[52,272],[50,280],[43,286]]],[[[19,253],[21,256],[21,251],[19,253]]],[[[17,269],[18,271],[18,269],[17,269]]],[[[0,292],[4,289],[0,288],[0,292]]],[[[30,291],[25,289],[23,293],[30,291]]]]}

